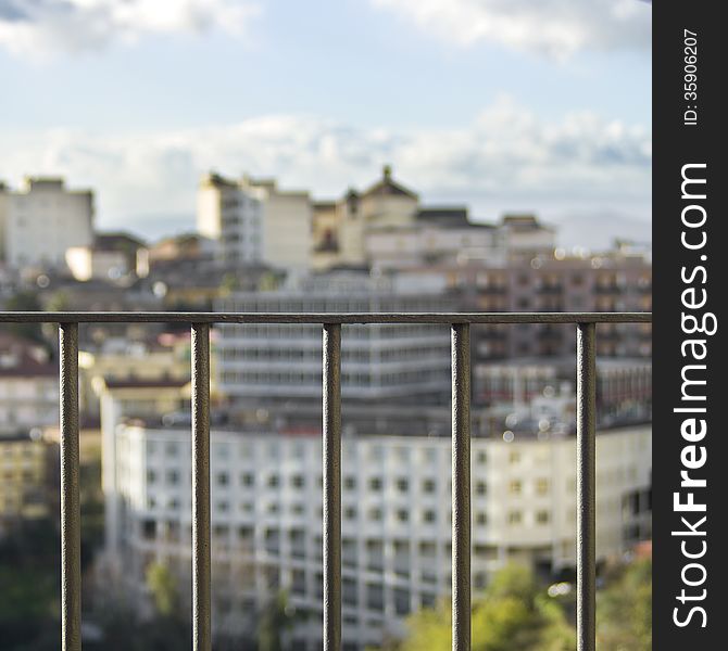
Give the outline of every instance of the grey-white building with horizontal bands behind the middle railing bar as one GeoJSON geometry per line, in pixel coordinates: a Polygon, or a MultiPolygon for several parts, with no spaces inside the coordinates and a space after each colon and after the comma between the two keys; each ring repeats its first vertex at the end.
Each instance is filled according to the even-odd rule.
{"type": "MultiPolygon", "coordinates": [[[[441,284],[373,279],[359,272],[292,278],[280,290],[234,294],[219,311],[432,312],[452,308],[441,284]]],[[[317,398],[322,391],[318,324],[221,326],[221,392],[234,399],[317,398]]],[[[447,326],[344,326],[342,394],[361,399],[449,396],[447,326]]]]}

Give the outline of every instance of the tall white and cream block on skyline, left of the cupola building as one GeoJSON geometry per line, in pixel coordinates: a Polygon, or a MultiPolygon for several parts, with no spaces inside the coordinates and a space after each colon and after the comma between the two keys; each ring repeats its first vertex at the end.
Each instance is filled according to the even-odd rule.
{"type": "Polygon", "coordinates": [[[311,264],[312,210],[307,192],[283,191],[273,179],[209,174],[198,191],[198,232],[225,263],[302,270],[311,264]]]}

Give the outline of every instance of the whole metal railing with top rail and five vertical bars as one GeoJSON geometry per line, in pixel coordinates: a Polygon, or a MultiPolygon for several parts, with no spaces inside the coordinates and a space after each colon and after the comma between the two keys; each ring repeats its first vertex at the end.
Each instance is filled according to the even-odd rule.
{"type": "Polygon", "coordinates": [[[60,345],[61,624],[63,651],[80,649],[78,324],[188,323],[192,378],[192,649],[210,651],[210,327],[299,323],[323,328],[324,650],[341,649],[341,326],[449,324],[452,347],[452,649],[470,648],[470,324],[577,328],[577,644],[595,651],[595,327],[649,323],[650,312],[240,314],[0,312],[0,323],[57,323],[60,345]]]}

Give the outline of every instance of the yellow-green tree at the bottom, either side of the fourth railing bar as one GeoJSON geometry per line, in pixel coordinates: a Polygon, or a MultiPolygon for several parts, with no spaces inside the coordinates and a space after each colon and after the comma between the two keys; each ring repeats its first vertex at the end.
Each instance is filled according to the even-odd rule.
{"type": "MultiPolygon", "coordinates": [[[[449,651],[450,604],[410,618],[401,651],[449,651]]],[[[520,565],[501,570],[473,604],[473,651],[572,651],[575,635],[562,608],[520,565]]]]}

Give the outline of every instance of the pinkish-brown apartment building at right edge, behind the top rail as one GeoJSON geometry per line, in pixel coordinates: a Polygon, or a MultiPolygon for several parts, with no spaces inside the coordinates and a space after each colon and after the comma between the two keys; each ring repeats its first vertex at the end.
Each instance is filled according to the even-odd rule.
{"type": "MultiPolygon", "coordinates": [[[[599,254],[562,251],[503,263],[443,263],[401,269],[399,276],[440,277],[465,311],[650,311],[649,255],[616,246],[599,254]]],[[[649,358],[650,323],[602,323],[600,357],[649,358]]],[[[479,326],[473,329],[474,362],[528,357],[570,357],[576,329],[549,323],[479,326]]]]}

